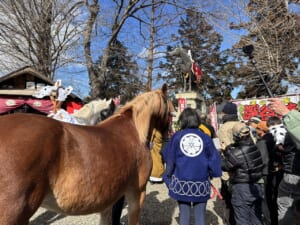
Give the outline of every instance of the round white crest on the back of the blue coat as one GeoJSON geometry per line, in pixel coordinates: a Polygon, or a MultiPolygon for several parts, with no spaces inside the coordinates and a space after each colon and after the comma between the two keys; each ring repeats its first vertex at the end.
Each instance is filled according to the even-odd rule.
{"type": "Polygon", "coordinates": [[[196,134],[186,134],[180,140],[180,150],[188,157],[196,157],[203,150],[202,138],[196,134]]]}

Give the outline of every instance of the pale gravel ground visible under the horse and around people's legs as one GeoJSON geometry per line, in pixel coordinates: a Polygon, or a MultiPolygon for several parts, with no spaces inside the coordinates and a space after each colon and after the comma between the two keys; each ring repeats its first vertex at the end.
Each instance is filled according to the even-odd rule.
{"type": "MultiPolygon", "coordinates": [[[[219,180],[213,180],[219,188],[219,180]]],[[[223,225],[222,202],[211,199],[207,204],[206,225],[223,225]]],[[[127,206],[121,221],[127,224],[127,206]]],[[[88,216],[65,216],[40,208],[31,218],[30,225],[99,225],[99,214],[88,216]]],[[[170,199],[164,184],[147,184],[147,195],[143,205],[140,225],[178,225],[177,203],[170,199]]]]}

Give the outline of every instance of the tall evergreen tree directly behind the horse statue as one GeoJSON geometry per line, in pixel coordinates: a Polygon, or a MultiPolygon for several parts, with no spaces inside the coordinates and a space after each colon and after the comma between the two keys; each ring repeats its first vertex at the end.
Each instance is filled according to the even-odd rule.
{"type": "MultiPolygon", "coordinates": [[[[231,99],[232,73],[234,65],[228,62],[228,52],[221,52],[222,37],[211,26],[201,12],[186,10],[185,18],[181,18],[178,30],[180,47],[191,50],[195,63],[202,68],[200,83],[193,83],[192,90],[203,95],[207,102],[222,102],[231,99]]],[[[174,49],[168,46],[167,52],[174,49]]],[[[174,57],[167,56],[161,67],[168,70],[165,77],[176,92],[183,91],[184,76],[176,65],[174,57]]]]}

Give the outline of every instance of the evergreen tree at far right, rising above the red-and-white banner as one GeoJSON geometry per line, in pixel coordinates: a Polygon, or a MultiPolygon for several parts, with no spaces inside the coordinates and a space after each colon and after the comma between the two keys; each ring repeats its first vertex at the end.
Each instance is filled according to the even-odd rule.
{"type": "Polygon", "coordinates": [[[248,30],[234,46],[239,68],[236,82],[245,87],[239,98],[268,96],[262,79],[274,95],[287,92],[287,85],[282,80],[300,84],[300,16],[289,12],[287,2],[251,0],[246,9],[250,22],[231,24],[232,29],[248,30]],[[245,46],[254,47],[248,59],[243,57],[246,56],[245,46]]]}

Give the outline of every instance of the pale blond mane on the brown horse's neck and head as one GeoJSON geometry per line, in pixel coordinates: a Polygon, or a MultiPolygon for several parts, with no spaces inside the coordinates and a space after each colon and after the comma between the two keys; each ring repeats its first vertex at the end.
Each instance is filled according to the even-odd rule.
{"type": "MultiPolygon", "coordinates": [[[[140,94],[120,107],[115,116],[131,111],[132,119],[139,133],[140,140],[145,143],[150,129],[151,117],[153,115],[164,117],[164,114],[167,113],[165,110],[162,110],[163,105],[167,104],[162,103],[163,98],[164,94],[162,90],[154,90],[140,94]]],[[[166,108],[168,111],[169,105],[167,105],[166,108]]]]}

